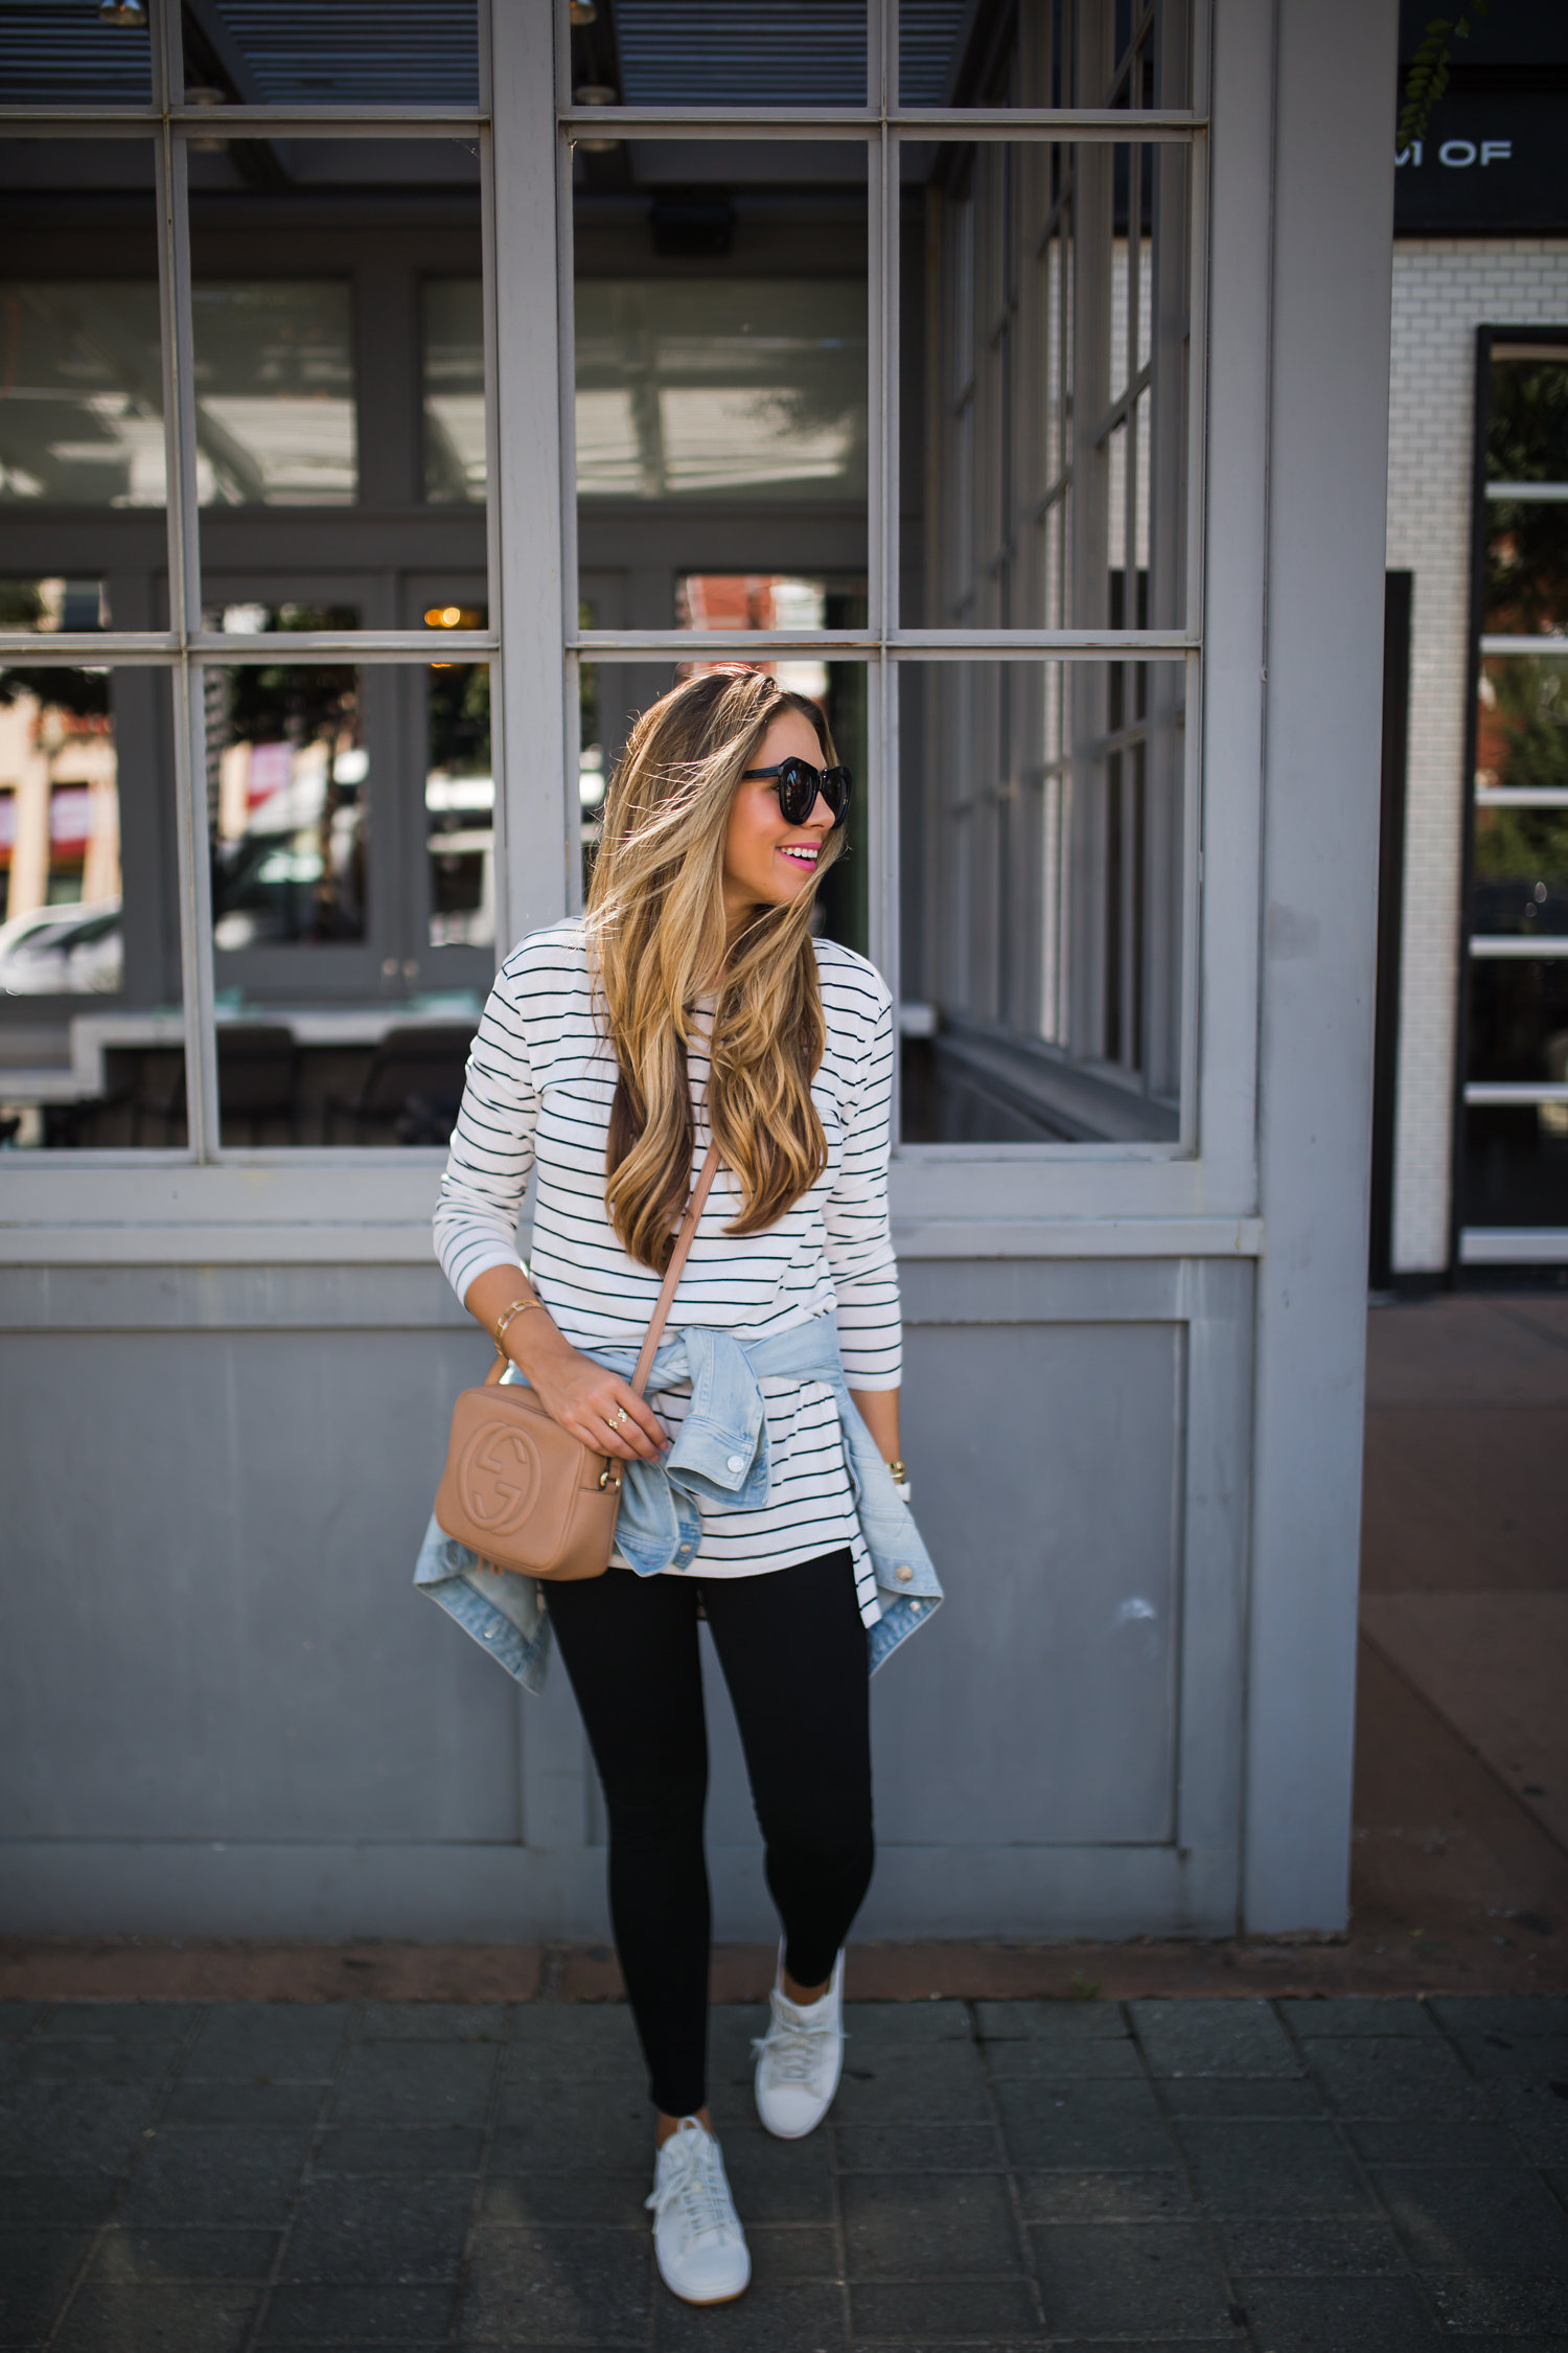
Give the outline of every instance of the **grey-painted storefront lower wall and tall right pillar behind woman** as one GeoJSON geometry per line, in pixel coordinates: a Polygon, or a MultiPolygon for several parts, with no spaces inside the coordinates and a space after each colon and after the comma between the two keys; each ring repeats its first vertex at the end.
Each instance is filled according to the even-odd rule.
{"type": "MultiPolygon", "coordinates": [[[[877,1682],[865,1934],[1345,1918],[1392,80],[1392,0],[1218,0],[1192,1151],[893,1172],[950,1600],[877,1682]]],[[[0,1172],[7,1927],[602,1932],[564,1680],[409,1586],[484,1362],[433,1181],[0,1172]]],[[[715,1727],[717,1927],[766,1934],[715,1727]]]]}

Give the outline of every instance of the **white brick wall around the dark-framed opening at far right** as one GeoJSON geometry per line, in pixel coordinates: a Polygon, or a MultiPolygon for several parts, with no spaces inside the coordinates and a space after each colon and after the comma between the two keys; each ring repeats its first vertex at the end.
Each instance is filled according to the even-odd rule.
{"type": "Polygon", "coordinates": [[[1568,329],[1568,238],[1401,238],[1389,572],[1413,572],[1394,1266],[1448,1261],[1476,327],[1568,329]]]}

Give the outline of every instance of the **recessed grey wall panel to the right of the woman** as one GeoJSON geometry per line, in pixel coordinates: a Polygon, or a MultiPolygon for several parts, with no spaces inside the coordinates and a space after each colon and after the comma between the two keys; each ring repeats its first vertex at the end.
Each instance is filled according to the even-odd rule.
{"type": "Polygon", "coordinates": [[[1178,1325],[910,1334],[947,1602],[877,1678],[884,1838],[1171,1838],[1180,1367],[1178,1325]]]}

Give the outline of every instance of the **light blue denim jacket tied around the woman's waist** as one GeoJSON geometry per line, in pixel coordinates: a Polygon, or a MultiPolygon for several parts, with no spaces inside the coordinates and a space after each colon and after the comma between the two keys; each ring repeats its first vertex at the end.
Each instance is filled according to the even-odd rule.
{"type": "MultiPolygon", "coordinates": [[[[630,1379],[637,1362],[635,1348],[588,1348],[585,1355],[623,1379],[630,1379]]],[[[823,1381],[837,1400],[849,1485],[882,1605],[877,1624],[865,1628],[875,1673],[926,1624],[943,1588],[877,1440],[849,1395],[832,1315],[816,1315],[790,1332],[752,1341],[691,1325],[661,1344],[649,1374],[649,1395],[689,1381],[691,1412],[661,1461],[625,1466],[616,1551],[637,1577],[658,1577],[663,1569],[696,1562],[703,1541],[698,1499],[729,1511],[757,1511],[766,1504],[769,1424],[757,1386],[766,1374],[823,1381]]],[[[503,1379],[522,1381],[522,1374],[512,1365],[503,1379]]],[[[701,1562],[696,1567],[701,1577],[701,1562]]],[[[524,1689],[541,1687],[550,1624],[538,1579],[487,1567],[477,1553],[430,1520],[414,1584],[475,1642],[482,1642],[524,1689]]]]}

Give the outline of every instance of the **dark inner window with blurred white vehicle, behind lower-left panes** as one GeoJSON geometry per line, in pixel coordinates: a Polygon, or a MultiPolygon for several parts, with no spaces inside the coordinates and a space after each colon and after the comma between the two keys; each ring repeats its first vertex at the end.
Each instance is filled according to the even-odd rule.
{"type": "Polygon", "coordinates": [[[207,671],[216,948],[364,939],[369,753],[360,713],[353,668],[207,671]]]}

